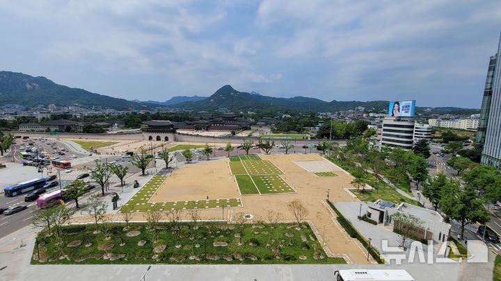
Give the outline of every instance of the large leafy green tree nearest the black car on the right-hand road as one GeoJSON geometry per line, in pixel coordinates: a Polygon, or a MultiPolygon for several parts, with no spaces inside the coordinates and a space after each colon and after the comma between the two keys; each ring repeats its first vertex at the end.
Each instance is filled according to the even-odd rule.
{"type": "Polygon", "coordinates": [[[459,183],[453,189],[447,190],[440,200],[440,209],[450,219],[461,223],[461,237],[464,237],[464,228],[470,223],[484,224],[490,216],[485,210],[477,191],[468,185],[461,189],[459,183]]]}

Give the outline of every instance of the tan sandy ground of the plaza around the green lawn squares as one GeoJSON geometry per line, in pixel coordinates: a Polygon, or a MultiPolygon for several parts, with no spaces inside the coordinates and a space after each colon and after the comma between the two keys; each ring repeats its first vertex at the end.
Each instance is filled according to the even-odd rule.
{"type": "MultiPolygon", "coordinates": [[[[232,219],[237,212],[253,214],[264,221],[267,220],[268,210],[281,212],[286,221],[293,221],[294,216],[289,212],[287,203],[299,199],[308,208],[306,218],[317,230],[317,235],[323,237],[326,251],[334,256],[345,257],[347,262],[364,264],[367,256],[363,247],[355,239],[347,237],[340,230],[335,220],[335,213],[325,203],[329,190],[329,198],[333,201],[356,201],[344,187],[350,187],[353,179],[347,173],[340,173],[338,177],[321,178],[305,171],[293,161],[326,161],[319,155],[260,155],[263,160],[270,160],[284,172],[283,179],[289,183],[296,194],[270,195],[239,195],[237,183],[231,176],[228,160],[214,160],[194,164],[175,171],[164,185],[157,191],[150,201],[181,201],[206,198],[235,198],[242,199],[243,207],[229,208],[225,219],[232,219]]],[[[203,219],[221,219],[221,210],[204,210],[203,219]]]]}

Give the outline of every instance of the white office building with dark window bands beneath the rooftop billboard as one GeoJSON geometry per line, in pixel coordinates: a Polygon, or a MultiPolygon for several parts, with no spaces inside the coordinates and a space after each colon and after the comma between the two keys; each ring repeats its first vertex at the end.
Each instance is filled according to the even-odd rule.
{"type": "Polygon", "coordinates": [[[386,117],[383,119],[381,146],[411,149],[414,144],[414,125],[414,119],[386,117]]]}

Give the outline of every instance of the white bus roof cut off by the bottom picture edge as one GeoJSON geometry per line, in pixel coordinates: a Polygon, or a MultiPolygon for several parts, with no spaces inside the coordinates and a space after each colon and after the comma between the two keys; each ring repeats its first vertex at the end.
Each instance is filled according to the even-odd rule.
{"type": "Polygon", "coordinates": [[[347,269],[335,271],[336,281],[414,281],[402,269],[347,269]]]}

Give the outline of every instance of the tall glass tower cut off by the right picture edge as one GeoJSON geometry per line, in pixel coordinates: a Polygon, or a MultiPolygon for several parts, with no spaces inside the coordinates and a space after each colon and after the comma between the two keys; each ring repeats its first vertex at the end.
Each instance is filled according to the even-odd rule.
{"type": "MultiPolygon", "coordinates": [[[[498,43],[498,53],[501,52],[501,37],[498,43]]],[[[501,60],[495,61],[492,79],[491,104],[487,114],[487,129],[484,148],[482,150],[482,164],[501,168],[501,60]]],[[[482,118],[482,117],[481,117],[482,118]]]]}

